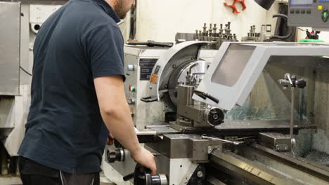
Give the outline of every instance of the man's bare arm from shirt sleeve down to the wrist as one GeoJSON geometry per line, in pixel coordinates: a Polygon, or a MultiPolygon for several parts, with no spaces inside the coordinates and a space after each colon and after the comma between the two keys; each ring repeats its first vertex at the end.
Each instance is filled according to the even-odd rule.
{"type": "Polygon", "coordinates": [[[94,80],[99,109],[106,127],[131,154],[141,150],[121,76],[105,76],[94,80]]]}

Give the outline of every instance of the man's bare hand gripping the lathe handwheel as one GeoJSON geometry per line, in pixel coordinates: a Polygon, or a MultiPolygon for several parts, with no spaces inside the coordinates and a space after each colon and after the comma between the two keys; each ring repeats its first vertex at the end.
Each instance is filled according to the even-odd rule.
{"type": "Polygon", "coordinates": [[[141,147],[136,153],[131,153],[131,158],[135,160],[136,163],[143,165],[151,170],[151,174],[157,174],[157,166],[155,165],[155,159],[150,151],[141,147]]]}

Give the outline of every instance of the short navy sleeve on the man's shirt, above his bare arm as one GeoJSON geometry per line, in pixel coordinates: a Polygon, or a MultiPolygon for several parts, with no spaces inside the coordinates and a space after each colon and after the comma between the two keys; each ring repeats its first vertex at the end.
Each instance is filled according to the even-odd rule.
{"type": "Polygon", "coordinates": [[[102,25],[84,38],[93,78],[120,75],[124,77],[124,41],[118,27],[102,25]]]}

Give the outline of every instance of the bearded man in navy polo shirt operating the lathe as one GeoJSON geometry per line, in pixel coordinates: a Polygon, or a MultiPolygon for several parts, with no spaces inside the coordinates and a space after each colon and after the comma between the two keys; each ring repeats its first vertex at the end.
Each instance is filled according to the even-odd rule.
{"type": "Polygon", "coordinates": [[[124,96],[117,22],[135,0],[71,0],[44,22],[34,43],[32,102],[20,146],[24,185],[99,184],[109,131],[154,174],[124,96]]]}

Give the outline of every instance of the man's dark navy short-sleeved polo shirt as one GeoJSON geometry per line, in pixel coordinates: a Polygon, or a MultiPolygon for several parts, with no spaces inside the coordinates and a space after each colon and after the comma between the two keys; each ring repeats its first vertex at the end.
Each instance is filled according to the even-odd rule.
{"type": "Polygon", "coordinates": [[[20,156],[69,173],[101,171],[108,129],[93,79],[124,76],[119,21],[104,0],[71,0],[44,22],[20,156]]]}

